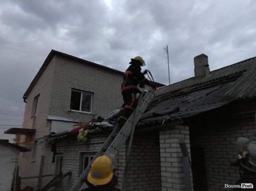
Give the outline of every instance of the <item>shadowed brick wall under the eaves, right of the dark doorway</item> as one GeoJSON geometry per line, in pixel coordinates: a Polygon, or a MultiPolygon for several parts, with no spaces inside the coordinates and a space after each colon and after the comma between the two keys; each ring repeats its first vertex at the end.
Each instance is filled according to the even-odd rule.
{"type": "Polygon", "coordinates": [[[191,147],[204,149],[208,190],[230,190],[224,184],[239,180],[238,167],[230,166],[238,154],[235,142],[241,136],[256,140],[255,119],[232,119],[195,128],[197,135],[191,136],[191,147]]]}

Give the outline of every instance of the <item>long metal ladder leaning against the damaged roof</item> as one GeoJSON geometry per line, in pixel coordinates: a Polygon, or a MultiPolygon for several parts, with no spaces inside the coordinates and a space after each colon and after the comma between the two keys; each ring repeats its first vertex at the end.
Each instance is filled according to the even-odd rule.
{"type": "MultiPolygon", "coordinates": [[[[93,160],[103,153],[108,155],[117,155],[119,149],[121,149],[122,145],[126,142],[127,138],[130,136],[132,130],[134,131],[136,124],[139,122],[141,115],[145,112],[148,105],[150,104],[152,98],[154,98],[154,90],[150,88],[147,92],[143,92],[138,98],[138,105],[134,109],[132,115],[128,118],[125,124],[118,124],[115,129],[111,132],[107,140],[104,142],[100,150],[96,153],[93,160]]],[[[85,188],[85,180],[86,176],[89,173],[91,163],[86,167],[83,171],[82,175],[78,178],[74,186],[70,189],[70,191],[80,191],[85,188]]]]}

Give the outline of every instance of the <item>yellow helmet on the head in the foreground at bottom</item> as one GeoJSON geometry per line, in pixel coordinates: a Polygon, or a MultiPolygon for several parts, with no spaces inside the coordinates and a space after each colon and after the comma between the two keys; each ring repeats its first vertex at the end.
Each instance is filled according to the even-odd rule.
{"type": "Polygon", "coordinates": [[[114,165],[107,155],[98,156],[91,165],[87,180],[94,185],[108,184],[113,178],[114,165]]]}

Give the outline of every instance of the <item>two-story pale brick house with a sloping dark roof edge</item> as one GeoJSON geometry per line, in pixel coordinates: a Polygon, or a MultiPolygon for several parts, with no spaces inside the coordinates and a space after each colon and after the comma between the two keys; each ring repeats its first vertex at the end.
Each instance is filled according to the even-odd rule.
{"type": "MultiPolygon", "coordinates": [[[[58,51],[49,53],[24,93],[23,128],[9,129],[9,133],[20,134],[19,144],[32,148],[31,152],[20,155],[20,176],[52,176],[46,176],[45,181],[44,178],[22,179],[23,187],[37,189],[58,174],[58,161],[52,163],[50,145],[43,142],[44,136],[67,131],[77,122],[89,122],[94,116],[104,116],[119,108],[122,78],[121,71],[58,51]],[[47,153],[50,158],[43,157],[47,153]]],[[[60,155],[64,154],[58,152],[60,155]]],[[[65,162],[71,167],[76,158],[63,158],[65,162]]]]}

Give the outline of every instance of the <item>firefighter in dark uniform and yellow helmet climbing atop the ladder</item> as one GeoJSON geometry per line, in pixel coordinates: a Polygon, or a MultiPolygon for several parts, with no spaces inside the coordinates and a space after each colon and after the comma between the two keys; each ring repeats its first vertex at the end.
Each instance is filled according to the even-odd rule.
{"type": "Polygon", "coordinates": [[[145,66],[145,61],[140,56],[131,59],[130,66],[124,73],[124,80],[121,85],[121,93],[124,104],[121,107],[117,122],[126,122],[129,116],[137,106],[136,94],[139,92],[137,85],[139,83],[146,84],[154,89],[157,88],[156,83],[149,81],[141,72],[141,66],[145,66]]]}

